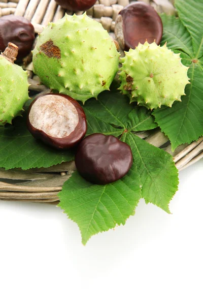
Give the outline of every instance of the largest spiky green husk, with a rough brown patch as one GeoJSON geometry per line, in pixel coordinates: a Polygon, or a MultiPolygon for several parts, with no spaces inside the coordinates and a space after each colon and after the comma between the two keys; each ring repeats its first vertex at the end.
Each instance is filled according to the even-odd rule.
{"type": "Polygon", "coordinates": [[[41,81],[83,103],[109,89],[118,70],[118,58],[108,32],[86,14],[65,15],[49,23],[33,50],[34,72],[41,81]],[[58,58],[42,51],[42,45],[49,41],[60,51],[58,58]]]}

